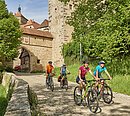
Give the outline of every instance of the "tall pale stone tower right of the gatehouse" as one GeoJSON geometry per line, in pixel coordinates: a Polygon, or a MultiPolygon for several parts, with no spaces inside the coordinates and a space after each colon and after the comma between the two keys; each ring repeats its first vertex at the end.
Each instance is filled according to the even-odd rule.
{"type": "Polygon", "coordinates": [[[52,60],[56,66],[64,63],[62,56],[63,43],[70,42],[73,27],[66,24],[66,17],[74,10],[74,2],[71,0],[67,5],[58,0],[48,0],[49,28],[53,36],[52,60]]]}

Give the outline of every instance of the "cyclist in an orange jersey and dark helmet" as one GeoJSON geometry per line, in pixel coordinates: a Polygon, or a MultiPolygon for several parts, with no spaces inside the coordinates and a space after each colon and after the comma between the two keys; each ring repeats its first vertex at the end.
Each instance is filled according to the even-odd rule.
{"type": "Polygon", "coordinates": [[[48,77],[54,76],[54,67],[52,65],[52,61],[48,62],[48,65],[46,66],[46,82],[48,83],[48,77]]]}

